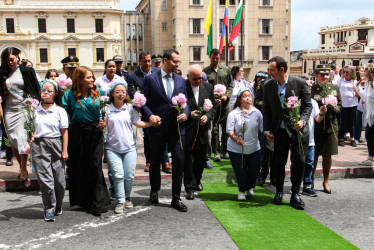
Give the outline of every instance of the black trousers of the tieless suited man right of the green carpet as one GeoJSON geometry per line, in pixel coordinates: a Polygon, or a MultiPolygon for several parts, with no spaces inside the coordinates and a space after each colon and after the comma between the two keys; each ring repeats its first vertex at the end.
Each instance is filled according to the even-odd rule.
{"type": "Polygon", "coordinates": [[[292,140],[285,129],[280,128],[274,139],[274,169],[277,192],[283,192],[285,167],[291,146],[295,156],[295,165],[291,169],[292,193],[298,194],[305,171],[305,156],[308,152],[309,136],[299,145],[298,140],[292,140]],[[301,151],[302,150],[302,151],[301,151]]]}

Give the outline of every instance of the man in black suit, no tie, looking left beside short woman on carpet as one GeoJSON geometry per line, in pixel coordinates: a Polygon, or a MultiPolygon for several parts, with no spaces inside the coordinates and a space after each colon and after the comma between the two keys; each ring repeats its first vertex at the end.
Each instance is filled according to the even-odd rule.
{"type": "Polygon", "coordinates": [[[285,166],[291,145],[295,155],[295,165],[291,169],[292,195],[290,205],[304,209],[299,191],[305,169],[305,154],[308,151],[308,120],[312,111],[312,103],[305,80],[287,73],[287,63],[279,56],[268,62],[268,73],[272,78],[265,82],[263,98],[264,133],[269,141],[274,141],[274,168],[276,172],[276,194],[273,203],[282,204],[285,166]],[[290,96],[301,100],[300,120],[292,123],[288,111],[283,104],[290,96]],[[301,145],[297,131],[302,132],[301,145]]]}

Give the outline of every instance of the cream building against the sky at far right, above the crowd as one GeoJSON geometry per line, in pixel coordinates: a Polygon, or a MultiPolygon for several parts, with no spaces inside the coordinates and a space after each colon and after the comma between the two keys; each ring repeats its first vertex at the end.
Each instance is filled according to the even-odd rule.
{"type": "Polygon", "coordinates": [[[374,20],[360,18],[352,24],[321,27],[319,48],[303,50],[302,73],[313,76],[317,64],[362,66],[374,59],[374,20]]]}

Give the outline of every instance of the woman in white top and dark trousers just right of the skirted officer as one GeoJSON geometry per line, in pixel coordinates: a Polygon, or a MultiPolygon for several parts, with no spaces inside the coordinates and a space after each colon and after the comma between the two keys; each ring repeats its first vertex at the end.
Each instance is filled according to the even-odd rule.
{"type": "Polygon", "coordinates": [[[354,139],[354,121],[358,104],[358,93],[356,91],[356,72],[354,67],[345,66],[343,68],[344,77],[338,81],[340,95],[342,97],[341,122],[339,127],[339,146],[344,146],[344,136],[347,132],[350,133],[350,142],[352,147],[357,147],[354,139]]]}

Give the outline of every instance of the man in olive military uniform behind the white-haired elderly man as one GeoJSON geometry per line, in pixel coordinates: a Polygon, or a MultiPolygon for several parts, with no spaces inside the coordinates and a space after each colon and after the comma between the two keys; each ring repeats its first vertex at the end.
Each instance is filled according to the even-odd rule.
{"type": "Polygon", "coordinates": [[[220,151],[224,159],[229,159],[227,153],[227,134],[226,134],[226,121],[230,113],[230,96],[232,94],[233,83],[230,68],[219,65],[220,54],[218,49],[212,49],[210,52],[210,66],[203,69],[206,73],[208,81],[213,86],[216,84],[223,84],[226,86],[226,94],[220,100],[216,99],[216,115],[213,119],[212,128],[212,153],[214,154],[214,161],[220,161],[220,151]],[[220,106],[219,103],[221,103],[220,106]],[[218,121],[219,119],[219,121],[218,121]],[[219,145],[219,125],[222,128],[221,136],[221,150],[219,145]]]}

